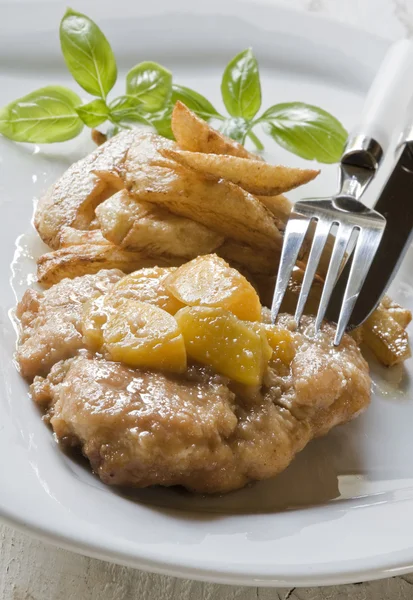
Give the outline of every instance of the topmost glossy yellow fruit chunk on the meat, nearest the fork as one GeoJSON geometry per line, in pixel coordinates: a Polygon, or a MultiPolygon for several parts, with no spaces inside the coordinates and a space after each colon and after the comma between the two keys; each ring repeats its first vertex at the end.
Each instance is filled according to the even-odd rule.
{"type": "Polygon", "coordinates": [[[165,280],[166,289],[188,306],[220,307],[245,321],[261,319],[261,304],[250,282],[215,254],[178,267],[165,280]]]}

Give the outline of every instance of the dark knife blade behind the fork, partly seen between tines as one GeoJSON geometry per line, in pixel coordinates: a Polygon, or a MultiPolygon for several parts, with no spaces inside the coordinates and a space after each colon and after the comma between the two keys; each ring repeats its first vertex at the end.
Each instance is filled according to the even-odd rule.
{"type": "MultiPolygon", "coordinates": [[[[398,150],[397,162],[374,209],[387,225],[350,317],[348,329],[361,325],[379,304],[393,281],[413,238],[413,142],[398,150]]],[[[347,261],[331,297],[326,319],[337,322],[351,266],[347,261]]]]}

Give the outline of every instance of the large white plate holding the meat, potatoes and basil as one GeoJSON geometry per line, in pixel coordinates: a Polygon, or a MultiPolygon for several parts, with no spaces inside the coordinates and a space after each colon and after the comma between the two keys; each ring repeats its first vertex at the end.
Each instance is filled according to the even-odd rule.
{"type": "MultiPolygon", "coordinates": [[[[102,1],[83,2],[81,9],[99,20],[123,71],[158,60],[176,81],[219,106],[224,65],[251,45],[266,106],[315,103],[347,126],[387,46],[356,29],[256,2],[115,4],[116,12],[114,3],[102,1]]],[[[57,37],[62,12],[56,2],[2,5],[1,105],[41,84],[69,82],[57,37]]],[[[86,135],[42,148],[0,140],[2,518],[91,556],[223,583],[331,584],[413,569],[413,399],[402,370],[384,375],[375,366],[365,415],[310,444],[278,478],[222,498],[173,490],[126,498],[59,451],[12,363],[8,312],[13,290],[20,297],[33,280],[31,257],[41,251],[30,227],[33,197],[89,147],[86,135]]],[[[268,148],[274,161],[308,164],[268,148]]],[[[323,168],[306,193],[332,192],[335,176],[334,167],[323,168]]],[[[411,308],[412,266],[410,256],[393,286],[395,299],[411,308]]]]}

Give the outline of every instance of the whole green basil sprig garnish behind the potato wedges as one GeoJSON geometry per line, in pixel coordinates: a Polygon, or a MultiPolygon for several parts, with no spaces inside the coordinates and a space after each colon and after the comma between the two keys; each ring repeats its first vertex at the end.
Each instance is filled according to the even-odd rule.
{"type": "Polygon", "coordinates": [[[60,23],[60,43],[66,65],[92,99],[61,86],[47,86],[0,110],[0,133],[16,142],[62,142],[79,135],[86,125],[105,127],[112,136],[122,129],[145,125],[173,139],[171,116],[180,100],[201,119],[257,150],[264,145],[259,126],[286,150],[308,160],[332,163],[340,159],[347,132],[325,110],[304,102],[271,106],[261,115],[261,82],[257,59],[247,48],[226,66],[221,82],[225,116],[199,92],[174,83],[172,74],[155,62],[141,62],[127,73],[124,94],[109,99],[117,80],[115,56],[101,29],[86,15],[68,9],[60,23]]]}

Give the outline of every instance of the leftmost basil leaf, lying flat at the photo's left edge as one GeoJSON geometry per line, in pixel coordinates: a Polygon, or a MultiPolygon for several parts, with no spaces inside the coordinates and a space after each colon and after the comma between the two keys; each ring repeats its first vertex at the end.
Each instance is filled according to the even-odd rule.
{"type": "Polygon", "coordinates": [[[70,140],[83,129],[75,108],[80,102],[79,96],[67,88],[40,88],[0,110],[0,133],[15,142],[70,140]]]}

